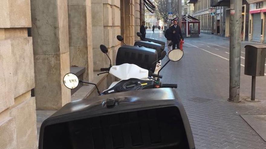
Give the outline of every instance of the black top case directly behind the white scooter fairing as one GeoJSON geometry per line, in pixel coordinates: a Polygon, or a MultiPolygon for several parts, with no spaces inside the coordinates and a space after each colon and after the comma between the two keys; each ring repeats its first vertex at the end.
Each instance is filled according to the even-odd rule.
{"type": "Polygon", "coordinates": [[[156,50],[145,47],[124,45],[118,48],[115,64],[135,64],[143,69],[151,70],[154,73],[156,62],[156,50]]]}

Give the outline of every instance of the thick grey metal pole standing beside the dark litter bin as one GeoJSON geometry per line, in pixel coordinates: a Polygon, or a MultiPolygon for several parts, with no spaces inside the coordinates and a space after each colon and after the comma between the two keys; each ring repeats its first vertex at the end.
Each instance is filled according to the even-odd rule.
{"type": "Polygon", "coordinates": [[[239,102],[242,1],[230,1],[229,101],[239,102]]]}

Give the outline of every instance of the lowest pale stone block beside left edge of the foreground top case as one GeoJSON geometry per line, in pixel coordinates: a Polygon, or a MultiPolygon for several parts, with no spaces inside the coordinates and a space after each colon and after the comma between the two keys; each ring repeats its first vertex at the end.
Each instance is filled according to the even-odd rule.
{"type": "Polygon", "coordinates": [[[37,148],[35,97],[29,97],[10,111],[15,119],[17,149],[37,148]]]}

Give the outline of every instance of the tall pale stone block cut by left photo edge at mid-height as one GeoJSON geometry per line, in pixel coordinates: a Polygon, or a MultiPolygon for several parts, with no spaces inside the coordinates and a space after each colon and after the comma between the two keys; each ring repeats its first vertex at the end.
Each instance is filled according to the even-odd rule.
{"type": "Polygon", "coordinates": [[[9,40],[2,40],[0,41],[0,113],[14,104],[12,65],[11,43],[9,40]]]}

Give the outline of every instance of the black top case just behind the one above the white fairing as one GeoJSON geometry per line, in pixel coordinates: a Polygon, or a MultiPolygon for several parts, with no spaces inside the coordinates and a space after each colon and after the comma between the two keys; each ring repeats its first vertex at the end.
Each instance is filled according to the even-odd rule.
{"type": "Polygon", "coordinates": [[[164,51],[163,45],[154,42],[136,41],[134,45],[156,50],[158,58],[161,58],[161,52],[164,51]]]}

